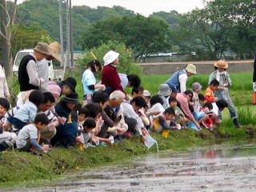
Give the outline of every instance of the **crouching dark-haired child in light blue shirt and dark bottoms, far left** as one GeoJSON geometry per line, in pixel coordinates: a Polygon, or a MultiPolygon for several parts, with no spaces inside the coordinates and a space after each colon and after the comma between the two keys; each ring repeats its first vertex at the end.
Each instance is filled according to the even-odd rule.
{"type": "Polygon", "coordinates": [[[21,106],[14,117],[8,118],[8,121],[14,126],[15,131],[19,131],[23,126],[26,126],[30,122],[34,122],[34,117],[38,113],[38,106],[40,106],[45,100],[42,90],[33,90],[29,96],[29,102],[26,102],[21,106]]]}

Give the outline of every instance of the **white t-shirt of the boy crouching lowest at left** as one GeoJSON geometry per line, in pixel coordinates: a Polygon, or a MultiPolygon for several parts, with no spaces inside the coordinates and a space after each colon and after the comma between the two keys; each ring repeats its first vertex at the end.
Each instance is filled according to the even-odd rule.
{"type": "Polygon", "coordinates": [[[38,138],[38,128],[34,124],[29,124],[24,126],[22,130],[18,133],[18,138],[16,140],[16,145],[18,149],[22,149],[26,146],[26,139],[28,138],[38,138]]]}

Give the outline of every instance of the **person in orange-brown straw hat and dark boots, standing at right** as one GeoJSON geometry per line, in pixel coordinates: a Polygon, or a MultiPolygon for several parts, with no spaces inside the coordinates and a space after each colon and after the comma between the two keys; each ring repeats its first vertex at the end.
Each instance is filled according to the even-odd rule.
{"type": "Polygon", "coordinates": [[[225,61],[219,60],[214,63],[214,72],[210,74],[208,84],[214,79],[219,83],[218,90],[215,90],[215,96],[218,100],[225,100],[228,104],[228,109],[230,111],[230,117],[233,120],[234,126],[239,128],[240,123],[238,122],[238,113],[234,109],[234,104],[230,98],[229,87],[232,85],[230,75],[227,73],[228,64],[225,61]]]}

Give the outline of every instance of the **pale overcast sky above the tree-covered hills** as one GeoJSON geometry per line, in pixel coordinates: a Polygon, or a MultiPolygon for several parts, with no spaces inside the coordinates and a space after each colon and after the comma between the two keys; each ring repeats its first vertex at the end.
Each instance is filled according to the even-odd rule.
{"type": "MultiPolygon", "coordinates": [[[[18,3],[24,0],[18,0],[18,3]]],[[[123,6],[127,10],[148,16],[153,12],[177,10],[178,13],[186,13],[194,8],[202,8],[202,0],[72,0],[73,6],[123,6]]]]}

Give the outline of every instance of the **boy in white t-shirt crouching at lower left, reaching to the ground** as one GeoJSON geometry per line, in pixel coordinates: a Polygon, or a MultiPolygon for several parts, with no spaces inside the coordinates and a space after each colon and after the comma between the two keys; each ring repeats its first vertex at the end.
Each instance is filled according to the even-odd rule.
{"type": "Polygon", "coordinates": [[[40,139],[40,134],[38,130],[42,130],[47,126],[49,120],[46,114],[39,113],[35,116],[34,122],[26,125],[18,133],[18,138],[16,141],[16,146],[18,150],[23,150],[29,152],[32,150],[47,151],[49,146],[40,146],[38,141],[40,139]]]}

